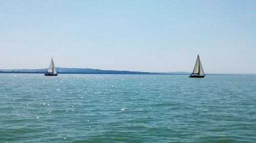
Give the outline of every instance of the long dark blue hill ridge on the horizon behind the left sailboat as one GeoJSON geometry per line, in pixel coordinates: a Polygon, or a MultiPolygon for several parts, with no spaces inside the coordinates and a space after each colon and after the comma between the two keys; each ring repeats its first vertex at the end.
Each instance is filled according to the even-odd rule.
{"type": "MultiPolygon", "coordinates": [[[[100,70],[90,68],[56,68],[58,73],[66,74],[164,74],[153,72],[138,71],[117,71],[117,70],[100,70]]],[[[10,69],[0,70],[0,73],[45,73],[47,69],[10,69]]]]}

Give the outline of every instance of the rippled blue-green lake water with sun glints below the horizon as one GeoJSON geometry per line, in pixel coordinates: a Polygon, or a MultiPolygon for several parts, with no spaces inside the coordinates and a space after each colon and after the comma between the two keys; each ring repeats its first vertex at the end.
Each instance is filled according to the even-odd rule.
{"type": "Polygon", "coordinates": [[[0,74],[0,142],[256,142],[256,76],[0,74]]]}

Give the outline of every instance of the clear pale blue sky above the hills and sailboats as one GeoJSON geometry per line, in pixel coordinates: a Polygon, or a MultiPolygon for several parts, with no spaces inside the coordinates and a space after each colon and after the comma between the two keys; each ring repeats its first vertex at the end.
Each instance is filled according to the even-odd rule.
{"type": "Polygon", "coordinates": [[[256,73],[256,1],[0,0],[0,69],[256,73]]]}

